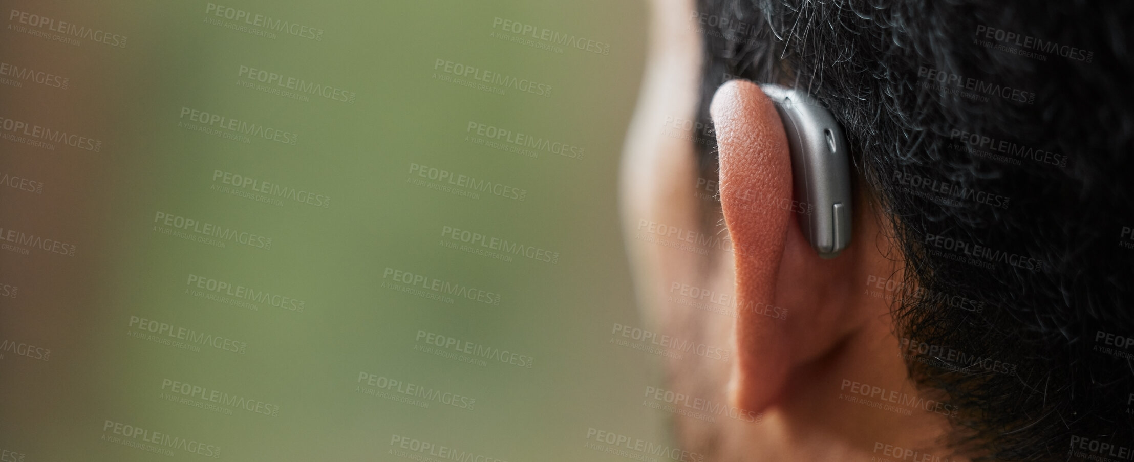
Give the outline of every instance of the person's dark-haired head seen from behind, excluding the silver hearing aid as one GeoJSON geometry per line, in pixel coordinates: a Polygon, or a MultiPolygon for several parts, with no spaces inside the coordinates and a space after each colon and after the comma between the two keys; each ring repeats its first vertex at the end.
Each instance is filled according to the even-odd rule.
{"type": "Polygon", "coordinates": [[[712,460],[1134,450],[1134,8],[653,7],[621,173],[636,291],[659,328],[729,353],[670,360],[669,386],[759,416],[677,417],[682,444],[712,460]],[[782,121],[754,83],[806,91],[844,128],[854,236],[833,259],[801,232],[782,121]]]}

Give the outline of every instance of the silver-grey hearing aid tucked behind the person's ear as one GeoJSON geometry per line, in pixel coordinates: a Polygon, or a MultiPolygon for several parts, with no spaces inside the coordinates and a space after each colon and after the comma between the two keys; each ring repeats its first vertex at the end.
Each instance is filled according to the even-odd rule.
{"type": "Polygon", "coordinates": [[[798,89],[761,84],[784,120],[792,151],[799,229],[819,256],[835,258],[850,243],[850,165],[846,138],[831,112],[798,89]]]}

